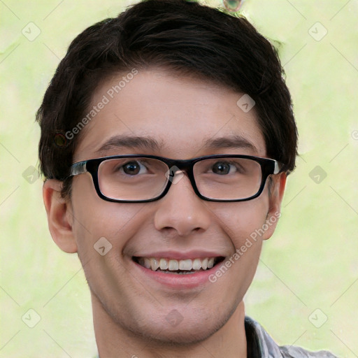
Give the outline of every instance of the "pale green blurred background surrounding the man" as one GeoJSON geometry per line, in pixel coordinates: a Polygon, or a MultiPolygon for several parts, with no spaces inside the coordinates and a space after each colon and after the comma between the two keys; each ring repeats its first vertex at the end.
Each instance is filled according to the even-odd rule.
{"type": "MultiPolygon", "coordinates": [[[[0,1],[0,357],[96,353],[80,262],[48,231],[34,117],[71,40],[129,4],[0,1]]],[[[280,344],[358,357],[358,1],[246,0],[241,10],[278,47],[300,153],[247,314],[280,344]]]]}

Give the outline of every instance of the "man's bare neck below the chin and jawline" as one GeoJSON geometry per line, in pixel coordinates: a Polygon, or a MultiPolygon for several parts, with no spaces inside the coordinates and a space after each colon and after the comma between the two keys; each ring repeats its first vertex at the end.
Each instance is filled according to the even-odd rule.
{"type": "Polygon", "coordinates": [[[238,304],[229,320],[213,335],[190,345],[165,345],[133,334],[114,322],[92,294],[94,333],[100,358],[216,357],[246,358],[245,310],[238,304]],[[138,357],[137,357],[138,356],[138,357]]]}

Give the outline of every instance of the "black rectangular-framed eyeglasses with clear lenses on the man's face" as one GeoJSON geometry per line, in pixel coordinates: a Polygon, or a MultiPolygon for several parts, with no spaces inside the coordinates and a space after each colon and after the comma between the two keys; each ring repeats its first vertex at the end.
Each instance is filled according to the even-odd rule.
{"type": "Polygon", "coordinates": [[[174,160],[155,155],[115,155],[71,166],[71,176],[89,172],[99,197],[106,201],[145,203],[161,199],[184,173],[194,192],[206,201],[246,201],[259,196],[274,159],[250,155],[210,155],[174,160]]]}

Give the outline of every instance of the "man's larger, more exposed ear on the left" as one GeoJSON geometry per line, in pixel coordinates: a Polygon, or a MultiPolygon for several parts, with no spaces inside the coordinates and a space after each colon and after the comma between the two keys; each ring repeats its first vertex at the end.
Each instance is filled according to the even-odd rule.
{"type": "Polygon", "coordinates": [[[64,252],[77,252],[73,236],[73,210],[71,202],[61,196],[62,182],[48,179],[43,183],[43,203],[48,215],[48,228],[53,241],[64,252]]]}

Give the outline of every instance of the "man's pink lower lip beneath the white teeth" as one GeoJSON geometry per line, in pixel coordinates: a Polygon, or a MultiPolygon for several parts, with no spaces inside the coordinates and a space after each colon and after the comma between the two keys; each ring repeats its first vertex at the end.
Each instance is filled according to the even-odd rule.
{"type": "Polygon", "coordinates": [[[134,262],[132,259],[131,262],[136,266],[141,274],[173,289],[189,289],[211,283],[209,276],[217,270],[216,264],[213,268],[196,273],[164,273],[160,271],[152,271],[150,268],[145,268],[134,262]]]}

